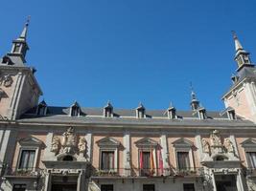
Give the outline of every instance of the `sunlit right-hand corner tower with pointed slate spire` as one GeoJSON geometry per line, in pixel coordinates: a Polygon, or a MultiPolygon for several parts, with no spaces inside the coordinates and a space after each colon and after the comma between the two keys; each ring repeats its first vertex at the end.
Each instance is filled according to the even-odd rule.
{"type": "Polygon", "coordinates": [[[239,41],[237,34],[233,33],[235,42],[235,61],[238,64],[237,74],[233,74],[232,86],[222,96],[225,108],[233,108],[239,117],[256,122],[256,68],[252,64],[249,53],[246,52],[239,41]]]}

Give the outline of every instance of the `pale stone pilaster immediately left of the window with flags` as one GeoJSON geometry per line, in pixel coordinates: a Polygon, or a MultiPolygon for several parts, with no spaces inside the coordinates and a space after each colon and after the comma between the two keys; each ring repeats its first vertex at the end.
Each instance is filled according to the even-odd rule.
{"type": "Polygon", "coordinates": [[[124,166],[124,175],[130,176],[130,135],[129,132],[124,134],[124,157],[123,157],[123,166],[124,166]]]}

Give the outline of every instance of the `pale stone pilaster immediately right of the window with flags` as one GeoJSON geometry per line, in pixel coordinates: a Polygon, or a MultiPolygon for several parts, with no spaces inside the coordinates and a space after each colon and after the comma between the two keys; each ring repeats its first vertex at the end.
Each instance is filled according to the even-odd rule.
{"type": "Polygon", "coordinates": [[[161,144],[161,155],[163,159],[163,167],[164,167],[164,175],[168,176],[170,175],[170,166],[169,166],[169,150],[168,150],[168,143],[167,143],[167,138],[166,134],[162,134],[160,137],[160,144],[161,144]]]}

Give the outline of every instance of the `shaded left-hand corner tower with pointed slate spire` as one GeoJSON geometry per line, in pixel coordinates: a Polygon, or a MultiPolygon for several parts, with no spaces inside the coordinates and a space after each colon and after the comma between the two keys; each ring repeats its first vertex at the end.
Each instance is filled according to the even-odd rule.
{"type": "Polygon", "coordinates": [[[0,59],[0,116],[7,119],[18,118],[36,107],[42,95],[35,69],[26,66],[28,27],[29,20],[19,37],[12,41],[11,53],[0,59]]]}

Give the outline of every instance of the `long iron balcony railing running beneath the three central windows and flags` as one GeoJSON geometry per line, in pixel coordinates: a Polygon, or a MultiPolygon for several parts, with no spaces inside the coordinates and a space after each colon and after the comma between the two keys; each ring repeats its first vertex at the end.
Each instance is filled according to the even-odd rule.
{"type": "Polygon", "coordinates": [[[111,169],[94,169],[93,177],[189,177],[201,176],[203,169],[198,168],[111,168],[111,169]]]}

